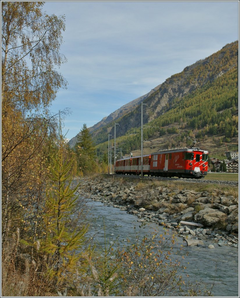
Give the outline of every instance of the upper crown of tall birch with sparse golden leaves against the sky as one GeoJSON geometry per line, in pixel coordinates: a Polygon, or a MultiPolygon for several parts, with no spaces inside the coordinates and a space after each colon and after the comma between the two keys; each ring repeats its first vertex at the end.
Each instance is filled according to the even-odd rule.
{"type": "Polygon", "coordinates": [[[55,67],[60,54],[64,17],[47,15],[43,2],[1,2],[2,104],[47,107],[66,81],[55,67]]]}

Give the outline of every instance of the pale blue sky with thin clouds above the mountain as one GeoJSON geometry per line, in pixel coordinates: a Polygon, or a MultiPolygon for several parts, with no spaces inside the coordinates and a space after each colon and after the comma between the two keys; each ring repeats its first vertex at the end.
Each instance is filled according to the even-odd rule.
{"type": "Polygon", "coordinates": [[[239,1],[47,1],[43,11],[65,15],[57,71],[68,86],[51,111],[70,109],[68,139],[239,39],[239,1]]]}

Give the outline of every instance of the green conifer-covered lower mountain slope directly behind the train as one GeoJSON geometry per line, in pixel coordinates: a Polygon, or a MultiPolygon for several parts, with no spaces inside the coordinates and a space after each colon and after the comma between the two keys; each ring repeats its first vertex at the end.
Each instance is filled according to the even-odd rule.
{"type": "MultiPolygon", "coordinates": [[[[225,142],[229,150],[237,150],[237,67],[191,94],[173,99],[159,117],[144,126],[143,138],[146,140],[144,154],[190,146],[194,139],[198,147],[209,150],[214,157],[225,155],[225,142]]],[[[106,152],[107,146],[107,142],[97,145],[99,158],[106,152]]],[[[132,152],[134,156],[139,156],[141,127],[128,130],[124,136],[117,135],[116,146],[122,149],[124,155],[132,152]]]]}

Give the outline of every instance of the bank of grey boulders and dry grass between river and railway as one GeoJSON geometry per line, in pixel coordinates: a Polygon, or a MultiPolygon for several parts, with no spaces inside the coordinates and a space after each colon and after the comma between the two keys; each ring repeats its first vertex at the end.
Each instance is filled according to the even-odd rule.
{"type": "Polygon", "coordinates": [[[238,195],[218,190],[196,191],[157,182],[128,181],[114,177],[85,178],[79,193],[94,201],[134,214],[177,232],[189,246],[238,247],[238,195]]]}

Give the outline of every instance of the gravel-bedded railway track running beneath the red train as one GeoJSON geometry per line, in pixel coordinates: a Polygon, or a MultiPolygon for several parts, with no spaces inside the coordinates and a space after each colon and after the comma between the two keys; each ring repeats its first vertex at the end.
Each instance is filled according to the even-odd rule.
{"type": "Polygon", "coordinates": [[[158,181],[184,181],[191,183],[212,183],[221,185],[238,186],[238,181],[220,181],[220,180],[208,180],[208,179],[188,179],[188,178],[169,178],[169,177],[148,177],[148,176],[137,176],[137,175],[119,175],[119,174],[109,174],[109,176],[116,176],[125,179],[147,179],[147,180],[158,180],[158,181]]]}

